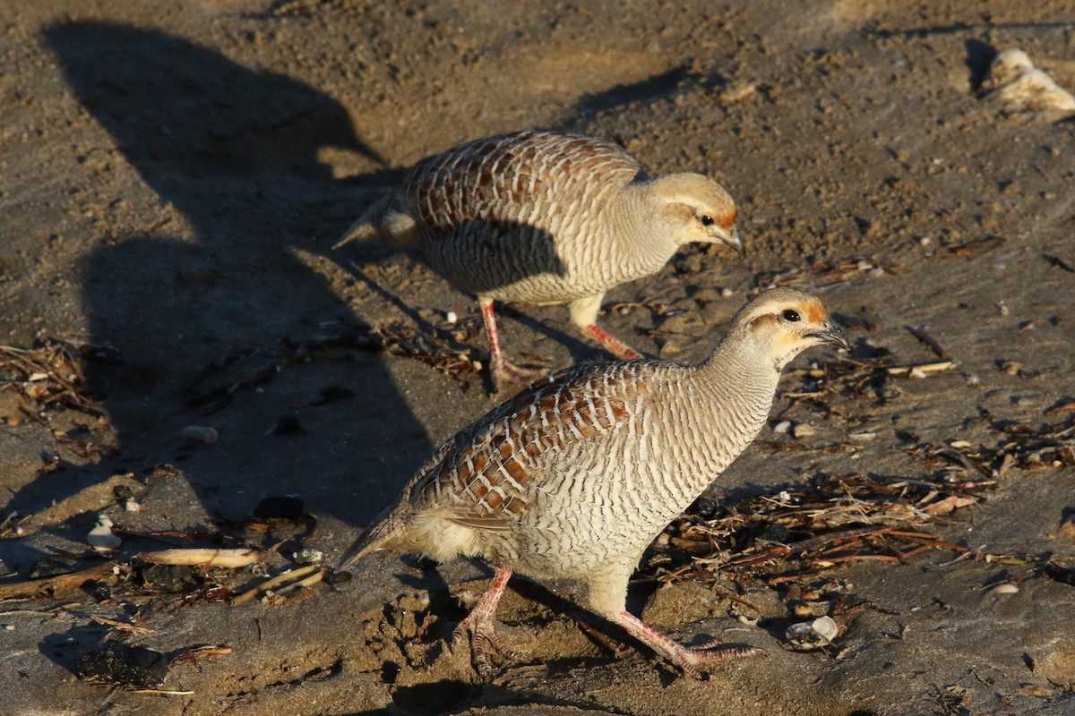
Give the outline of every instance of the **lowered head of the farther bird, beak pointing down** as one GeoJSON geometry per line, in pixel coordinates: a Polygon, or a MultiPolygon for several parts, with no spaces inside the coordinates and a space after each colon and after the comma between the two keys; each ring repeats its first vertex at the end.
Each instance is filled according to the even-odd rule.
{"type": "Polygon", "coordinates": [[[677,245],[727,244],[739,254],[746,248],[735,229],[735,202],[723,188],[701,174],[665,174],[649,182],[660,214],[677,245]]]}

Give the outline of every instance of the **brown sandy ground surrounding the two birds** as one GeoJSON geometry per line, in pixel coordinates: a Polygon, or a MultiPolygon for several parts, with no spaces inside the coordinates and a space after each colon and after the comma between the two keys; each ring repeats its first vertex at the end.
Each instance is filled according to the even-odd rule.
{"type": "MultiPolygon", "coordinates": [[[[0,342],[15,383],[0,391],[0,588],[83,552],[100,512],[142,535],[119,562],[244,524],[248,543],[284,542],[271,573],[301,544],[339,554],[496,398],[473,372],[362,348],[370,326],[452,328],[453,350],[482,357],[470,297],[413,257],[332,244],[400,169],[527,127],[611,137],[736,198],[746,260],[692,248],[610,294],[605,325],[650,355],[700,360],[751,290],[785,282],[823,297],[859,360],[938,362],[920,330],[955,361],[825,403],[789,397],[806,378],[787,377],[773,426],[814,434],[766,429],[714,497],[847,476],[933,484],[930,445],[998,455],[1048,429],[1070,444],[1075,123],[985,96],[1008,47],[1075,88],[1075,2],[4,3],[0,342]],[[70,371],[19,372],[18,351],[48,340],[71,347],[70,371]],[[27,398],[54,378],[86,403],[27,398]],[[299,429],[274,429],[282,415],[299,429]],[[191,425],[219,440],[186,441],[191,425]],[[141,512],[119,506],[120,483],[141,512]],[[300,496],[310,517],[243,523],[274,495],[300,496]]],[[[506,315],[512,354],[602,357],[562,308],[506,315]]],[[[1069,714],[1075,468],[1055,456],[946,472],[984,484],[917,529],[976,551],[963,559],[815,565],[779,587],[743,572],[641,580],[633,605],[656,627],[768,653],[706,682],[588,635],[567,613],[572,585],[518,580],[499,616],[522,660],[479,684],[440,640],[489,572],[381,554],[353,582],[242,607],[227,597],[257,583],[248,570],[171,595],[0,603],[0,712],[1069,714]],[[785,648],[797,599],[836,617],[836,644],[785,648]],[[172,657],[231,652],[174,659],[172,693],[75,678],[108,635],[172,657]]]]}

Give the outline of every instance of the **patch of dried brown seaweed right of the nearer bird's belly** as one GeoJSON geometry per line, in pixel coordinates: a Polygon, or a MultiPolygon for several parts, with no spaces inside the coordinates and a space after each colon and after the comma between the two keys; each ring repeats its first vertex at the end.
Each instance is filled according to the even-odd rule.
{"type": "Polygon", "coordinates": [[[862,473],[819,478],[729,505],[707,518],[688,512],[665,530],[671,549],[657,553],[643,576],[713,581],[720,570],[733,580],[776,584],[856,560],[901,562],[931,549],[965,552],[919,526],[956,505],[977,502],[991,487],[862,473]]]}

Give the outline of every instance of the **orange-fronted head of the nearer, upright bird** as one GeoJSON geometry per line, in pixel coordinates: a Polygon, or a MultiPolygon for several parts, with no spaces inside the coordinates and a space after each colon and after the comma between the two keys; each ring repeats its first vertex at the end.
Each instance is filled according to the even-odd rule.
{"type": "Polygon", "coordinates": [[[794,289],[770,289],[741,308],[728,335],[742,333],[772,359],[777,371],[813,346],[849,349],[821,302],[794,289]]]}

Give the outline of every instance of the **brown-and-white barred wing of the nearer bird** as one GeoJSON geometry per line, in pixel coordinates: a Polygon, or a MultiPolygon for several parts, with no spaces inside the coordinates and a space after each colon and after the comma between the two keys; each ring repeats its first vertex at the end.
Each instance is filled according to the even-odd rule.
{"type": "Polygon", "coordinates": [[[533,506],[550,456],[621,426],[648,392],[657,362],[588,364],[533,383],[453,437],[443,459],[411,485],[413,512],[506,529],[533,506]]]}

